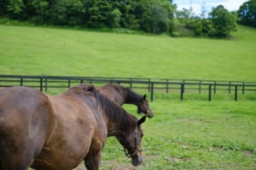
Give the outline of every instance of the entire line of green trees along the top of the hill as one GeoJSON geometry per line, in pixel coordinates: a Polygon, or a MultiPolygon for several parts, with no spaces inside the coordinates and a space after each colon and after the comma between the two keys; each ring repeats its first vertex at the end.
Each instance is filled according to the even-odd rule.
{"type": "MultiPolygon", "coordinates": [[[[240,18],[247,16],[244,8],[240,18]]],[[[237,21],[237,13],[222,5],[206,17],[204,11],[196,16],[189,9],[177,10],[172,0],[0,0],[0,16],[38,25],[125,28],[176,37],[230,37],[237,21]]]]}

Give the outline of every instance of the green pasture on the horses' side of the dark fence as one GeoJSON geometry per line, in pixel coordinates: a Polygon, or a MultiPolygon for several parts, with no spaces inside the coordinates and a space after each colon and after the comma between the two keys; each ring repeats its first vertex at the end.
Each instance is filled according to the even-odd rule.
{"type": "Polygon", "coordinates": [[[143,166],[132,168],[116,139],[108,139],[102,169],[255,169],[255,102],[161,100],[151,106],[143,166]]]}

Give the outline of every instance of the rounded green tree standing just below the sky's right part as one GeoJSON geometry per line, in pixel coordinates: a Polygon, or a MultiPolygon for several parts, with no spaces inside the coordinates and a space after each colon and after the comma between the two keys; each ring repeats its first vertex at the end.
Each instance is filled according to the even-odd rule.
{"type": "Polygon", "coordinates": [[[210,36],[230,37],[230,32],[236,31],[236,17],[224,8],[223,5],[212,8],[209,19],[212,21],[210,36]]]}

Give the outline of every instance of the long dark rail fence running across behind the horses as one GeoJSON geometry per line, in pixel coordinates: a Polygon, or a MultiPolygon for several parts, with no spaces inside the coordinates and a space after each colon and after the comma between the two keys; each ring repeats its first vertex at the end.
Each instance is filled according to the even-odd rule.
{"type": "Polygon", "coordinates": [[[154,100],[155,93],[176,93],[180,99],[184,99],[184,94],[202,94],[207,91],[208,100],[212,100],[212,94],[224,92],[234,94],[234,99],[238,99],[238,94],[253,94],[256,96],[256,82],[235,82],[235,81],[213,81],[196,79],[164,79],[164,78],[124,78],[124,77],[54,77],[54,76],[20,76],[20,75],[0,75],[0,88],[11,86],[28,86],[38,88],[47,92],[52,88],[70,88],[80,83],[103,84],[119,83],[125,87],[133,89],[143,89],[150,94],[150,100],[154,100]]]}

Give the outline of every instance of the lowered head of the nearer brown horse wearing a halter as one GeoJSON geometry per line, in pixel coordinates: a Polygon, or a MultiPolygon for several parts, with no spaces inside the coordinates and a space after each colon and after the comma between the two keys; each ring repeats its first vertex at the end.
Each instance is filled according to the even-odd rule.
{"type": "Polygon", "coordinates": [[[146,116],[143,116],[137,121],[136,127],[130,133],[117,136],[120,144],[124,146],[125,156],[131,158],[133,166],[138,166],[143,162],[142,139],[143,129],[141,124],[146,121],[146,116]]]}

